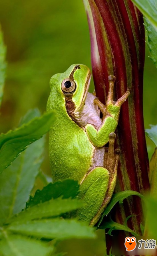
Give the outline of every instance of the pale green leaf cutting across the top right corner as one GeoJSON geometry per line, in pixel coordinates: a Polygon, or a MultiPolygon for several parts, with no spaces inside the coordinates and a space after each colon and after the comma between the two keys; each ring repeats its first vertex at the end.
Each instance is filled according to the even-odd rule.
{"type": "Polygon", "coordinates": [[[132,0],[143,15],[157,29],[157,1],[156,0],[132,0]]]}

